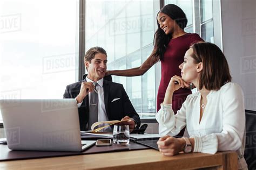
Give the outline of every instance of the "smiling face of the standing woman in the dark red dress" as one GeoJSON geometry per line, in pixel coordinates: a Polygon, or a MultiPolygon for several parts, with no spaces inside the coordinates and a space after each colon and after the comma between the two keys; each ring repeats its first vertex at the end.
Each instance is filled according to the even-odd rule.
{"type": "Polygon", "coordinates": [[[172,18],[162,12],[159,12],[157,16],[157,22],[160,26],[160,29],[163,30],[166,35],[173,33],[174,25],[176,22],[172,18]]]}

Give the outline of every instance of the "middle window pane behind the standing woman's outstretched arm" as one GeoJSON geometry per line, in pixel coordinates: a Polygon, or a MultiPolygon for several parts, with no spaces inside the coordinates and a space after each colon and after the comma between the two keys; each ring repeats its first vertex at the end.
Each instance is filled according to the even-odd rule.
{"type": "MultiPolygon", "coordinates": [[[[159,8],[159,2],[157,3],[159,8]]],[[[153,49],[156,6],[148,1],[86,0],[86,50],[101,46],[107,52],[107,69],[138,67],[153,49]]],[[[113,76],[122,83],[141,118],[156,114],[155,70],[143,76],[113,76]]]]}

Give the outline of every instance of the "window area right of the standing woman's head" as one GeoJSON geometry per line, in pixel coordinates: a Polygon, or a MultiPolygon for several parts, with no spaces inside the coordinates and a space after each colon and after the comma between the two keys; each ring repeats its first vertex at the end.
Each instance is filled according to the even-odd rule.
{"type": "Polygon", "coordinates": [[[220,1],[215,1],[213,4],[212,0],[165,0],[165,4],[170,3],[178,5],[186,13],[188,19],[186,32],[198,33],[205,41],[215,43],[221,48],[220,29],[214,27],[214,20],[219,27],[221,25],[218,6],[220,1]],[[214,36],[214,33],[217,36],[214,36]]]}

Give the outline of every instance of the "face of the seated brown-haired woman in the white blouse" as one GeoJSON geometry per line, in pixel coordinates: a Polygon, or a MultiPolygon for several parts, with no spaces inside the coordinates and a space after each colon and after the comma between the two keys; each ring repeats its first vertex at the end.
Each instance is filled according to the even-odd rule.
{"type": "Polygon", "coordinates": [[[194,63],[194,59],[192,58],[193,49],[190,48],[187,50],[184,56],[184,62],[179,65],[181,69],[181,78],[187,82],[192,82],[193,84],[198,82],[200,72],[203,69],[203,63],[194,63]]]}

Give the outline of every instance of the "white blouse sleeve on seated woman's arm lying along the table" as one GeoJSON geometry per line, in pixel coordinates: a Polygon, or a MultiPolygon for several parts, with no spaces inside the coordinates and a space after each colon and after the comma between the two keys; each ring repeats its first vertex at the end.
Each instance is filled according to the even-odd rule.
{"type": "Polygon", "coordinates": [[[194,138],[194,152],[214,154],[217,151],[237,151],[242,146],[245,132],[244,94],[238,84],[229,83],[222,95],[223,130],[194,138]]]}

